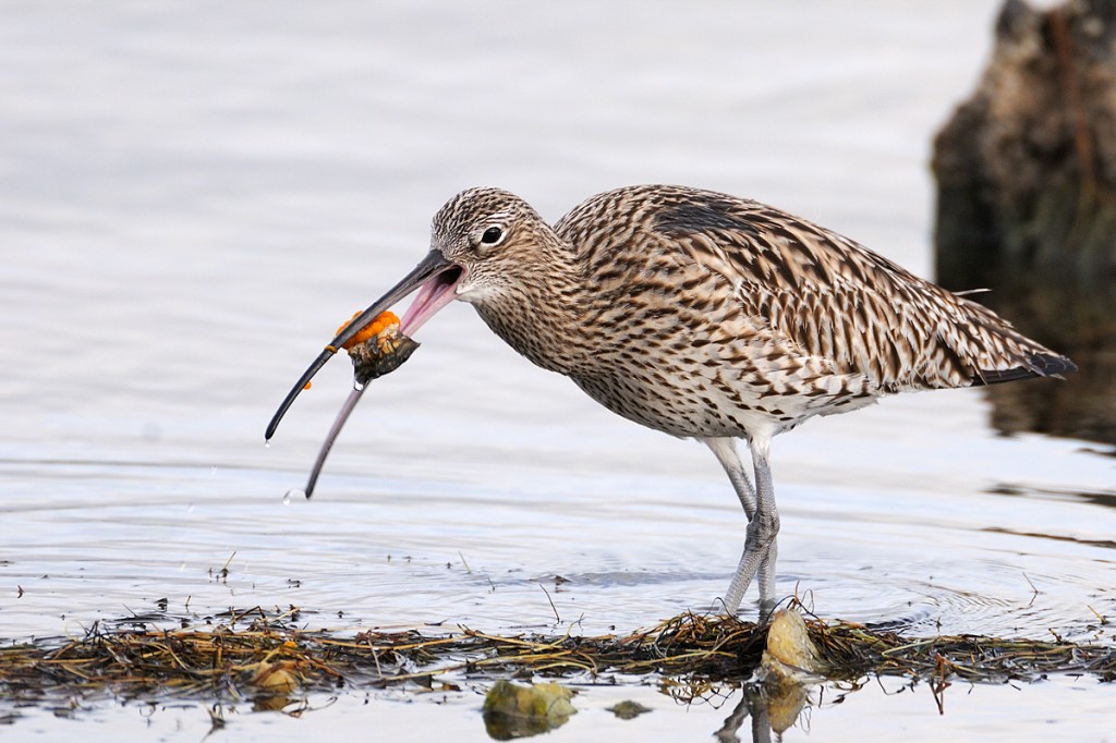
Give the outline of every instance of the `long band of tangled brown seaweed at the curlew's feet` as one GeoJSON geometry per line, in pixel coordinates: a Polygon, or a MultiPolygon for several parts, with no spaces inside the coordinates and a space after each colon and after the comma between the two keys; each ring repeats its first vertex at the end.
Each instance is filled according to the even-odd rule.
{"type": "MultiPolygon", "coordinates": [[[[106,628],[84,636],[0,647],[2,698],[22,704],[116,695],[289,702],[296,689],[406,686],[459,689],[508,676],[617,678],[681,683],[742,682],[763,654],[767,627],[733,617],[683,614],[631,634],[493,635],[469,628],[444,635],[417,629],[343,637],[294,626],[298,609],[230,610],[206,629],[106,628]]],[[[911,638],[863,625],[806,619],[824,676],[858,682],[905,676],[944,688],[1083,673],[1116,679],[1116,648],[971,635],[911,638]]]]}

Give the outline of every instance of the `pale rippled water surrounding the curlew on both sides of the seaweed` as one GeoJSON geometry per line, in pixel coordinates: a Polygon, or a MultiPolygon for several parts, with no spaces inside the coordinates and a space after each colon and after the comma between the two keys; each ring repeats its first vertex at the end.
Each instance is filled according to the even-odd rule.
{"type": "MultiPolygon", "coordinates": [[[[347,364],[262,445],[337,322],[425,252],[430,216],[465,186],[511,189],[557,219],[618,184],[685,182],[927,272],[930,139],[975,80],[992,3],[641,8],[11,4],[0,637],[78,634],[160,599],[199,621],[294,604],[341,630],[598,633],[711,606],[743,539],[713,457],[610,416],[468,307],[424,327],[406,369],[365,395],[312,501],[283,493],[305,482],[347,364]]],[[[1000,436],[988,412],[975,390],[916,395],[776,441],[780,591],[912,634],[1110,644],[1114,460],[1000,436]]],[[[656,695],[584,697],[603,710],[614,694],[656,695]]],[[[991,721],[1014,739],[1048,701],[1045,736],[1110,730],[1097,714],[1112,689],[1091,681],[954,696],[940,717],[925,689],[862,691],[788,736],[924,740],[991,721]]],[[[398,731],[483,736],[479,697],[369,698],[398,731]]],[[[663,699],[607,733],[596,712],[556,734],[704,739],[733,705],[680,715],[663,699]]],[[[368,710],[348,696],[304,720],[368,710]]],[[[77,720],[192,740],[209,725],[191,706],[77,720]]],[[[27,713],[12,730],[60,739],[75,724],[27,713]]],[[[273,715],[237,724],[305,734],[273,715]]]]}

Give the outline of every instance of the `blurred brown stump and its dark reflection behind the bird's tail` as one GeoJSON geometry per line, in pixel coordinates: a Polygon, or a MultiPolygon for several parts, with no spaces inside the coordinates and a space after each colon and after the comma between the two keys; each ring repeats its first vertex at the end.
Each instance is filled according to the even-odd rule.
{"type": "Polygon", "coordinates": [[[1080,372],[990,389],[993,424],[1116,443],[1116,0],[1008,0],[934,143],[937,280],[1080,372]]]}

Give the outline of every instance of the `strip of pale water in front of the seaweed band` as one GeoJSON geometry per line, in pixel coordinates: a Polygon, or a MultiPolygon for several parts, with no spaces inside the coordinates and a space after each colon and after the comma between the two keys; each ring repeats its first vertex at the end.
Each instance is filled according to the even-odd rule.
{"type": "MultiPolygon", "coordinates": [[[[647,686],[577,687],[577,713],[545,740],[558,741],[709,741],[751,742],[750,717],[732,720],[741,701],[739,689],[719,689],[693,704],[681,704],[647,686]],[[651,712],[620,720],[608,707],[638,701],[651,712]],[[716,735],[716,737],[714,737],[716,735]]],[[[945,691],[943,708],[925,686],[914,689],[896,679],[872,683],[847,693],[830,686],[815,692],[814,704],[785,741],[1019,740],[1020,731],[1041,733],[1042,740],[1110,740],[1116,686],[1087,678],[1058,677],[1028,686],[1002,684],[945,691]]],[[[425,740],[434,735],[453,741],[488,741],[481,715],[483,689],[442,694],[311,695],[292,704],[288,714],[251,713],[251,703],[221,710],[225,726],[213,728],[209,716],[187,705],[102,706],[76,720],[32,711],[16,732],[36,740],[71,740],[75,733],[127,735],[143,740],[296,741],[314,735],[350,740],[353,731],[375,715],[376,737],[425,740]],[[310,726],[312,725],[312,732],[310,726]],[[436,731],[436,733],[431,733],[436,731]]],[[[542,740],[542,739],[540,739],[542,740]]],[[[771,739],[775,740],[775,739],[771,739]]]]}

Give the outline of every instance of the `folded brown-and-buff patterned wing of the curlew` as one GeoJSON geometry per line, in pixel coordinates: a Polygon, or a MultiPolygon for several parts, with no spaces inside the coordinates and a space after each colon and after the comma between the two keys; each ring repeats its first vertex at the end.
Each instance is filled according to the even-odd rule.
{"type": "Polygon", "coordinates": [[[1070,370],[991,310],[858,243],[758,202],[691,192],[654,232],[720,276],[754,320],[881,392],[962,387],[1070,370]]]}

